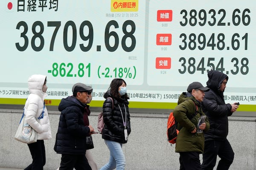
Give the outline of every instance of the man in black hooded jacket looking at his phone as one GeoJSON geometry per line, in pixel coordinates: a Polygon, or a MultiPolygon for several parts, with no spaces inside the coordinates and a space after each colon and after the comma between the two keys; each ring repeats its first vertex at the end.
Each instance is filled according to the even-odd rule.
{"type": "Polygon", "coordinates": [[[228,77],[219,71],[208,72],[207,87],[202,108],[208,116],[210,129],[204,133],[203,170],[213,170],[217,155],[221,158],[217,170],[228,170],[234,159],[234,152],[227,140],[228,116],[236,111],[238,105],[225,104],[223,92],[228,77]]]}

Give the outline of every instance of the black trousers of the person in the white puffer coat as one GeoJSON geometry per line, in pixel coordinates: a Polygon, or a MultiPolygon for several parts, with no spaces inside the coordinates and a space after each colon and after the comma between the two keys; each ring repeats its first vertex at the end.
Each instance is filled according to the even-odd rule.
{"type": "Polygon", "coordinates": [[[28,146],[33,161],[24,170],[43,170],[46,162],[44,140],[37,140],[35,143],[28,144],[28,146]]]}

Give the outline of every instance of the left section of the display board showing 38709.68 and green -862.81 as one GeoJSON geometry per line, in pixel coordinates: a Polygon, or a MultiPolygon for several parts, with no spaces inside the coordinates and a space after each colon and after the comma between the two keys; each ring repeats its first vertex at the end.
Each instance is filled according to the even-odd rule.
{"type": "Polygon", "coordinates": [[[43,1],[35,2],[36,11],[27,11],[28,1],[25,11],[16,11],[16,3],[23,4],[16,0],[15,11],[4,13],[2,47],[10,52],[5,62],[15,62],[1,68],[11,73],[3,75],[5,82],[26,82],[25,77],[38,72],[47,74],[49,83],[109,84],[114,77],[129,79],[130,85],[143,83],[143,72],[136,70],[145,58],[140,50],[145,39],[143,3],[136,13],[113,13],[111,1],[58,0],[57,11],[49,9],[53,0],[44,1],[44,11],[39,8],[43,1]]]}

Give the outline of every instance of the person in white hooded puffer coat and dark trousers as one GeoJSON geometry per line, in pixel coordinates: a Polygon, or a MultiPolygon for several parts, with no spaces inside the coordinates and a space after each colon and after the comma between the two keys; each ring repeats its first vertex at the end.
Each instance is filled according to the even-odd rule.
{"type": "Polygon", "coordinates": [[[38,133],[37,142],[28,144],[32,164],[24,170],[43,170],[46,163],[44,139],[51,139],[51,127],[44,98],[47,96],[46,76],[35,74],[29,77],[29,96],[24,107],[26,122],[38,133]],[[38,117],[43,117],[38,119],[38,117]]]}

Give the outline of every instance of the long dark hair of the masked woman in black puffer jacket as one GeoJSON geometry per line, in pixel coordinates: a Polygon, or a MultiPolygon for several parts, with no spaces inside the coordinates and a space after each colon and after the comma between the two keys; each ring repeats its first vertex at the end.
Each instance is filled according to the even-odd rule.
{"type": "Polygon", "coordinates": [[[123,95],[123,96],[119,95],[118,88],[122,85],[123,82],[126,85],[126,82],[123,79],[113,79],[112,82],[110,83],[110,87],[109,87],[110,88],[110,93],[116,99],[118,99],[118,98],[130,99],[128,97],[127,93],[125,93],[125,95],[123,95]]]}

